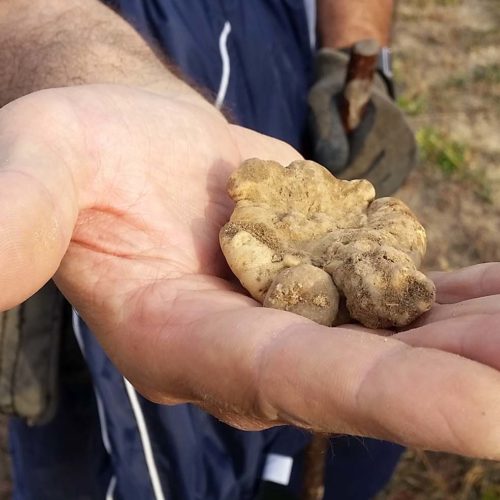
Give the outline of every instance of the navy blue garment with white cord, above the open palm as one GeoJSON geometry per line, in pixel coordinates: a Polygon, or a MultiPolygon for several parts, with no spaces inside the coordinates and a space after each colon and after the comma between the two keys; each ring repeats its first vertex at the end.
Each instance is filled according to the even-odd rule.
{"type": "Polygon", "coordinates": [[[221,35],[230,74],[224,106],[240,125],[300,147],[312,50],[304,0],[112,0],[108,2],[182,72],[214,95],[221,35]]]}

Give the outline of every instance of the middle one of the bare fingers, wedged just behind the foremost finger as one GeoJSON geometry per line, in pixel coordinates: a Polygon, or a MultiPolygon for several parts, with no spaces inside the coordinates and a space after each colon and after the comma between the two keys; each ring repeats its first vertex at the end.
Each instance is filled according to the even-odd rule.
{"type": "Polygon", "coordinates": [[[500,312],[443,319],[394,336],[408,345],[440,349],[500,370],[500,312]]]}

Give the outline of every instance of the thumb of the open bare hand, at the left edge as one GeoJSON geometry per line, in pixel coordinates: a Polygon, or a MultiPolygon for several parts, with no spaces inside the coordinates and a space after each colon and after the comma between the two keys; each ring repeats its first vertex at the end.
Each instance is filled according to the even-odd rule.
{"type": "Polygon", "coordinates": [[[51,119],[60,110],[37,101],[35,126],[32,106],[27,97],[0,110],[0,310],[55,273],[78,212],[75,180],[60,154],[67,145],[47,135],[48,123],[61,123],[51,119]]]}

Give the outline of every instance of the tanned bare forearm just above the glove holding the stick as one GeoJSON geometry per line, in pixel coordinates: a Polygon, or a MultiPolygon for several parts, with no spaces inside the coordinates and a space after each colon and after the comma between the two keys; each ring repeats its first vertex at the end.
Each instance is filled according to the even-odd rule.
{"type": "Polygon", "coordinates": [[[390,39],[394,0],[317,0],[322,47],[349,47],[366,38],[390,39]]]}

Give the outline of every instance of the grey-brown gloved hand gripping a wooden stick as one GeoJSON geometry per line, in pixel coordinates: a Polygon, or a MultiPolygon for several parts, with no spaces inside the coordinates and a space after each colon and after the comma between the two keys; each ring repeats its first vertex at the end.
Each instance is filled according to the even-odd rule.
{"type": "Polygon", "coordinates": [[[376,74],[371,99],[358,127],[346,133],[340,105],[349,56],[321,49],[309,94],[312,159],[342,179],[368,179],[377,197],[396,191],[417,162],[417,146],[403,113],[376,74]]]}

